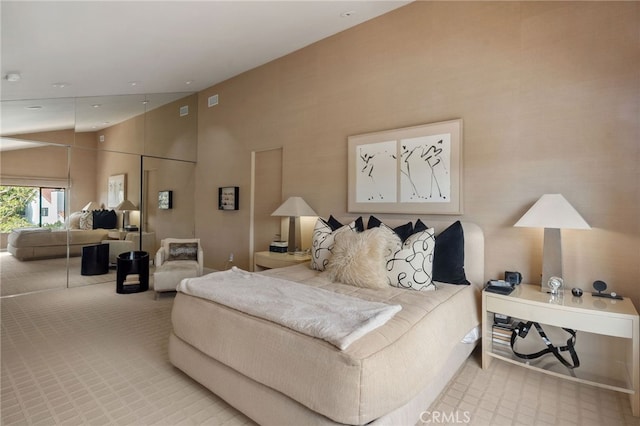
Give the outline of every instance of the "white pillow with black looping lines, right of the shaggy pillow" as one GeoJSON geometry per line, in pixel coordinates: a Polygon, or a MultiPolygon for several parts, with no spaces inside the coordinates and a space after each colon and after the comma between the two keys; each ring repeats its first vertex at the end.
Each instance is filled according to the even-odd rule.
{"type": "Polygon", "coordinates": [[[402,247],[387,258],[386,275],[390,285],[398,288],[432,291],[434,229],[429,228],[407,238],[402,247]]]}

